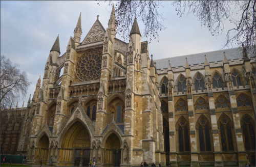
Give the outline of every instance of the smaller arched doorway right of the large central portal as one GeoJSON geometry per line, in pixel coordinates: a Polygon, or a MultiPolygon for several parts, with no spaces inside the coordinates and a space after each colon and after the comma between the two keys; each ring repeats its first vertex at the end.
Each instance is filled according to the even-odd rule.
{"type": "Polygon", "coordinates": [[[121,146],[119,137],[112,133],[106,139],[104,149],[104,163],[111,166],[120,166],[121,163],[121,146]]]}

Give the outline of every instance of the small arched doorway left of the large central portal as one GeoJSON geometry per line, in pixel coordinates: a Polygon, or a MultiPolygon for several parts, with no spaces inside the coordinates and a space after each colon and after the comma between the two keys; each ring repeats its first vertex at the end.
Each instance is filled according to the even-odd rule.
{"type": "Polygon", "coordinates": [[[49,138],[46,134],[41,136],[36,149],[36,160],[40,160],[42,158],[42,161],[47,161],[48,157],[48,151],[49,151],[49,138]]]}

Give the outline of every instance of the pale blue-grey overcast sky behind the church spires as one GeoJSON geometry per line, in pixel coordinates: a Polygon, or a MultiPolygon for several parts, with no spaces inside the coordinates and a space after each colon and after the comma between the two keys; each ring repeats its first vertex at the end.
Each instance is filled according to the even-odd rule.
{"type": "MultiPolygon", "coordinates": [[[[21,70],[26,70],[32,84],[25,99],[33,96],[39,75],[44,75],[45,64],[50,49],[59,35],[60,55],[66,52],[70,36],[81,12],[81,42],[90,31],[99,15],[103,27],[108,27],[111,6],[97,1],[1,1],[1,55],[18,63],[21,70]]],[[[179,55],[214,51],[222,48],[227,30],[233,25],[225,24],[222,35],[211,36],[206,27],[193,15],[181,18],[171,2],[164,1],[159,7],[165,20],[166,29],[159,33],[159,42],[149,44],[150,55],[154,60],[179,55]]],[[[228,22],[228,21],[227,21],[228,22]]],[[[144,26],[138,20],[141,33],[144,26]]],[[[117,36],[118,38],[118,36],[117,36]]],[[[122,40],[122,38],[119,38],[122,40]]],[[[142,38],[141,41],[146,41],[142,38]]],[[[127,41],[125,41],[127,42],[127,41]]],[[[185,61],[185,60],[184,60],[185,61]]],[[[41,77],[42,78],[42,77],[41,77]]],[[[22,105],[19,101],[18,106],[22,105]]]]}

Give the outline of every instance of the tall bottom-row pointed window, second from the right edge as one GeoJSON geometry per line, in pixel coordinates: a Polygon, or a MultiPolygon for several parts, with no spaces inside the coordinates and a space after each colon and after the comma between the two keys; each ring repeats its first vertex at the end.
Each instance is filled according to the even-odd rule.
{"type": "Polygon", "coordinates": [[[229,118],[223,116],[220,118],[219,121],[219,128],[220,128],[220,140],[222,145],[222,151],[233,151],[233,138],[232,138],[232,130],[231,130],[232,123],[229,121],[229,118]]]}

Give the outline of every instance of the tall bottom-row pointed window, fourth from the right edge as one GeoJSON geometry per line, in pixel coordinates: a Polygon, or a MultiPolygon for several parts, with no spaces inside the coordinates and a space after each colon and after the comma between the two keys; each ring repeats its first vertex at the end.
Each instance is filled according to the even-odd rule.
{"type": "Polygon", "coordinates": [[[190,151],[187,121],[185,119],[179,120],[178,127],[179,151],[190,151]]]}

